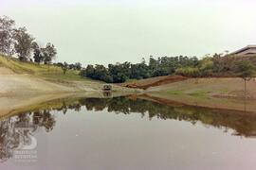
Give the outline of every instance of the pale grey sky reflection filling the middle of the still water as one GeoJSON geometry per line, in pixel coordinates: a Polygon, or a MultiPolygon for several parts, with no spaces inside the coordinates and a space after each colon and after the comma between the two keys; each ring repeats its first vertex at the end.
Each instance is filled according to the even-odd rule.
{"type": "MultiPolygon", "coordinates": [[[[254,169],[255,139],[174,119],[106,110],[56,112],[56,126],[34,133],[37,161],[12,158],[0,169],[254,169]]],[[[206,117],[207,118],[207,117],[206,117]]]]}

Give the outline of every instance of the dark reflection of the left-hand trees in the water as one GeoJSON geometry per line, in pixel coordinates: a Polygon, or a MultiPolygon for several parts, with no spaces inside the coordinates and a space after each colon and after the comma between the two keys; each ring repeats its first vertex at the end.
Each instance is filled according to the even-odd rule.
{"type": "Polygon", "coordinates": [[[20,113],[0,121],[0,160],[9,160],[15,149],[31,143],[28,134],[33,134],[39,127],[49,132],[54,125],[55,119],[50,110],[20,113]]]}

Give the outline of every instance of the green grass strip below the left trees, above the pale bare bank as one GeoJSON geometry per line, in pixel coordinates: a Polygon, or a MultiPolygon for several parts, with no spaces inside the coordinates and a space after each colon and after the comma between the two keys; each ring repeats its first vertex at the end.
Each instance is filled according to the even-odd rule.
{"type": "Polygon", "coordinates": [[[79,71],[68,70],[64,75],[61,67],[45,64],[39,65],[29,61],[22,62],[18,59],[7,59],[3,56],[0,56],[0,66],[7,67],[16,74],[40,76],[48,80],[88,80],[79,76],[79,71]]]}

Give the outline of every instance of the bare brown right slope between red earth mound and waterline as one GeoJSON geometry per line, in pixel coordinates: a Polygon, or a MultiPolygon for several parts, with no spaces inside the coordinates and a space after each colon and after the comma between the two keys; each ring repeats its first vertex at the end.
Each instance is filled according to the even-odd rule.
{"type": "MultiPolygon", "coordinates": [[[[244,98],[245,83],[239,77],[189,78],[147,89],[148,93],[191,95],[197,97],[244,98]]],[[[247,98],[256,98],[256,81],[247,81],[247,98]]]]}

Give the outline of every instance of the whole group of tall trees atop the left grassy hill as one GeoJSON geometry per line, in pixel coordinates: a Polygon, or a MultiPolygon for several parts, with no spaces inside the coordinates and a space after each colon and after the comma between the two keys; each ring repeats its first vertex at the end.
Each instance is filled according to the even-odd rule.
{"type": "Polygon", "coordinates": [[[7,58],[15,55],[21,61],[49,64],[56,57],[57,49],[50,42],[46,46],[40,45],[25,26],[16,27],[14,20],[3,16],[0,17],[0,54],[7,58]]]}

